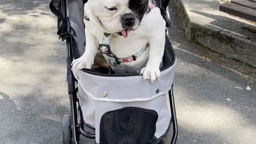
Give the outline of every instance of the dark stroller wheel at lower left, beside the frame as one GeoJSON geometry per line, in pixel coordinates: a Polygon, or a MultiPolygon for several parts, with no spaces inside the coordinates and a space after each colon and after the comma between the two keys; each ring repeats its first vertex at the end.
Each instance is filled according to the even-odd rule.
{"type": "Polygon", "coordinates": [[[69,115],[65,115],[62,121],[63,127],[63,143],[71,144],[72,139],[72,131],[71,131],[71,120],[69,115]]]}

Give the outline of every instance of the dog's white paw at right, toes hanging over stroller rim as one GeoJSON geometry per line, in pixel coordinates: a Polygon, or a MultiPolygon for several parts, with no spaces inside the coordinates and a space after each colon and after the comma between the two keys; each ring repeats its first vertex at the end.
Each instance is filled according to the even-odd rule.
{"type": "Polygon", "coordinates": [[[159,68],[152,68],[150,66],[146,66],[145,68],[141,69],[140,74],[143,74],[144,81],[146,79],[149,79],[151,83],[154,83],[154,81],[156,81],[156,78],[159,79],[160,77],[160,70],[159,68]]]}

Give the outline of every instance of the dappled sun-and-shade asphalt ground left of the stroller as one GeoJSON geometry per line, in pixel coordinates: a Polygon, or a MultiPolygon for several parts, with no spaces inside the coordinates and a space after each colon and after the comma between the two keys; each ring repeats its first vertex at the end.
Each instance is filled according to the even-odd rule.
{"type": "Polygon", "coordinates": [[[62,143],[66,46],[50,1],[0,1],[0,143],[62,143]]]}

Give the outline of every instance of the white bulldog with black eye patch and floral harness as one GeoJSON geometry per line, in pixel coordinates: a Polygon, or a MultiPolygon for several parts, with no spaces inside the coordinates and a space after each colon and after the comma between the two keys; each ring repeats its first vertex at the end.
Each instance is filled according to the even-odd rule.
{"type": "Polygon", "coordinates": [[[85,53],[72,69],[91,69],[100,47],[116,74],[159,78],[166,23],[154,0],[89,0],[84,14],[85,53]]]}

